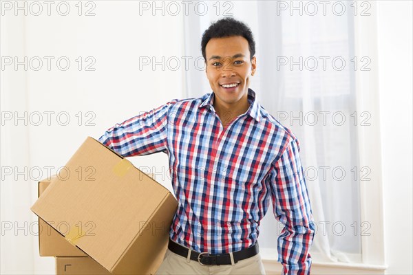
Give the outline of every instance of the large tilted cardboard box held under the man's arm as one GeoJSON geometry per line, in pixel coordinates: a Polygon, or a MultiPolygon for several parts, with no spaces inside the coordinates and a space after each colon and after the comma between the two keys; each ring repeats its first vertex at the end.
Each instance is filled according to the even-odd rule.
{"type": "Polygon", "coordinates": [[[92,137],[65,169],[31,210],[109,272],[155,273],[178,206],[171,192],[92,137]]]}

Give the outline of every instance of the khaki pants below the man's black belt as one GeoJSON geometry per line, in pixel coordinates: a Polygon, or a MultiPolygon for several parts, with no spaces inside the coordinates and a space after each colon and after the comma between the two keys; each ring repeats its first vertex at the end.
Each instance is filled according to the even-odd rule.
{"type": "Polygon", "coordinates": [[[235,265],[200,265],[167,249],[156,275],[163,274],[261,274],[265,275],[261,254],[237,261],[235,265]]]}

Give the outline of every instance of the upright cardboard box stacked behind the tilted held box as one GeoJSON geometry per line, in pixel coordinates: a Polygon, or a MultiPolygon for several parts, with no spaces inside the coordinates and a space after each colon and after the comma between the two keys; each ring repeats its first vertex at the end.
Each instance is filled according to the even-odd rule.
{"type": "MultiPolygon", "coordinates": [[[[47,186],[49,186],[50,181],[51,178],[39,181],[39,197],[47,186]]],[[[52,223],[52,221],[49,222],[52,223]]],[[[56,226],[59,227],[62,225],[65,226],[65,224],[56,224],[56,226]]],[[[62,234],[41,218],[39,218],[39,254],[40,256],[87,256],[82,250],[79,250],[76,246],[66,241],[62,234]]]]}

